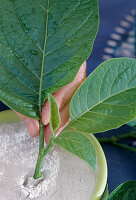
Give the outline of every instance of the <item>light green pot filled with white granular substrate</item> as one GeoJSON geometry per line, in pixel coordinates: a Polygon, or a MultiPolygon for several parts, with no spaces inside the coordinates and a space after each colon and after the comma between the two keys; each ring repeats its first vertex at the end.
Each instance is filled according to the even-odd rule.
{"type": "MultiPolygon", "coordinates": [[[[13,123],[17,121],[20,120],[13,111],[3,111],[0,113],[0,124],[13,123]]],[[[71,200],[79,200],[80,198],[89,200],[89,192],[91,191],[90,188],[92,188],[93,184],[94,188],[91,194],[91,200],[100,200],[107,182],[107,164],[103,150],[93,135],[90,135],[90,138],[96,148],[97,154],[97,172],[95,174],[84,161],[71,153],[62,150],[60,147],[54,147],[45,158],[44,166],[46,167],[45,169],[43,167],[43,171],[45,170],[45,179],[38,180],[37,182],[33,181],[31,177],[38,153],[38,138],[30,138],[26,133],[26,130],[22,135],[17,134],[19,129],[22,131],[25,129],[22,123],[15,123],[15,129],[13,124],[1,125],[1,127],[5,133],[0,135],[0,196],[4,194],[5,196],[2,196],[4,200],[9,200],[9,198],[10,200],[43,200],[44,198],[40,197],[43,193],[40,193],[40,191],[44,192],[44,189],[46,195],[51,200],[53,198],[55,200],[60,200],[62,198],[61,196],[64,195],[65,197],[66,194],[71,200]],[[13,135],[11,135],[11,132],[13,131],[16,133],[12,133],[13,135]],[[60,169],[60,166],[62,169],[60,169]],[[91,177],[94,177],[95,183],[91,183],[91,177]],[[76,179],[79,180],[79,183],[74,183],[76,179]],[[90,182],[88,182],[88,179],[90,182]],[[69,185],[67,186],[67,184],[69,185]],[[79,187],[80,184],[81,188],[79,187]],[[56,194],[56,188],[60,190],[60,197],[59,194],[56,194]],[[79,189],[79,194],[76,196],[76,192],[78,191],[77,188],[79,189]],[[85,191],[84,188],[87,191],[85,191]],[[88,190],[90,191],[88,192],[88,190]],[[88,192],[87,197],[84,197],[84,195],[81,197],[84,193],[83,191],[85,191],[85,193],[88,192]],[[74,197],[70,197],[72,192],[74,197]],[[49,197],[50,193],[52,193],[53,197],[49,197]]],[[[62,199],[64,200],[64,198],[62,199]]]]}

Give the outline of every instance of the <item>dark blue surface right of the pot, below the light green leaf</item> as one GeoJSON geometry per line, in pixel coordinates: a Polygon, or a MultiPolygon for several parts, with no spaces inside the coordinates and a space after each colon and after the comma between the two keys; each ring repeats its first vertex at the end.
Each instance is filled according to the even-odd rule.
{"type": "MultiPolygon", "coordinates": [[[[95,134],[97,137],[111,137],[128,133],[131,128],[127,125],[106,133],[95,134]]],[[[124,139],[121,142],[131,145],[133,139],[124,139]]],[[[111,144],[102,144],[108,164],[108,186],[112,192],[119,184],[128,180],[136,180],[136,153],[115,147],[111,144]]]]}

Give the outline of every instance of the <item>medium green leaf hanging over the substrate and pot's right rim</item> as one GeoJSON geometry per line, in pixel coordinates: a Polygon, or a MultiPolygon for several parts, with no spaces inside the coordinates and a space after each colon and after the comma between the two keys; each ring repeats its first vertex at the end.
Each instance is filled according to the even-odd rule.
{"type": "Polygon", "coordinates": [[[91,139],[86,134],[67,129],[54,140],[63,149],[73,153],[96,169],[96,151],[91,139]]]}

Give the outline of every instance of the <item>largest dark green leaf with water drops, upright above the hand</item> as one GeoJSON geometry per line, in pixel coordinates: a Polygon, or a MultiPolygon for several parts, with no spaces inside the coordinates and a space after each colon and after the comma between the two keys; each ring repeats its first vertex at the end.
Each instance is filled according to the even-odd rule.
{"type": "Polygon", "coordinates": [[[97,30],[97,0],[1,0],[0,99],[40,118],[47,93],[90,55],[97,30]]]}

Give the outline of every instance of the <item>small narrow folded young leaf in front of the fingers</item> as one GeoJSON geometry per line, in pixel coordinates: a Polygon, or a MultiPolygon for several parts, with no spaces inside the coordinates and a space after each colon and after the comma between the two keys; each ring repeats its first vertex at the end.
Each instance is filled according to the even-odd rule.
{"type": "Polygon", "coordinates": [[[50,103],[50,127],[54,132],[59,128],[61,123],[59,108],[54,97],[48,93],[48,101],[50,103]]]}

